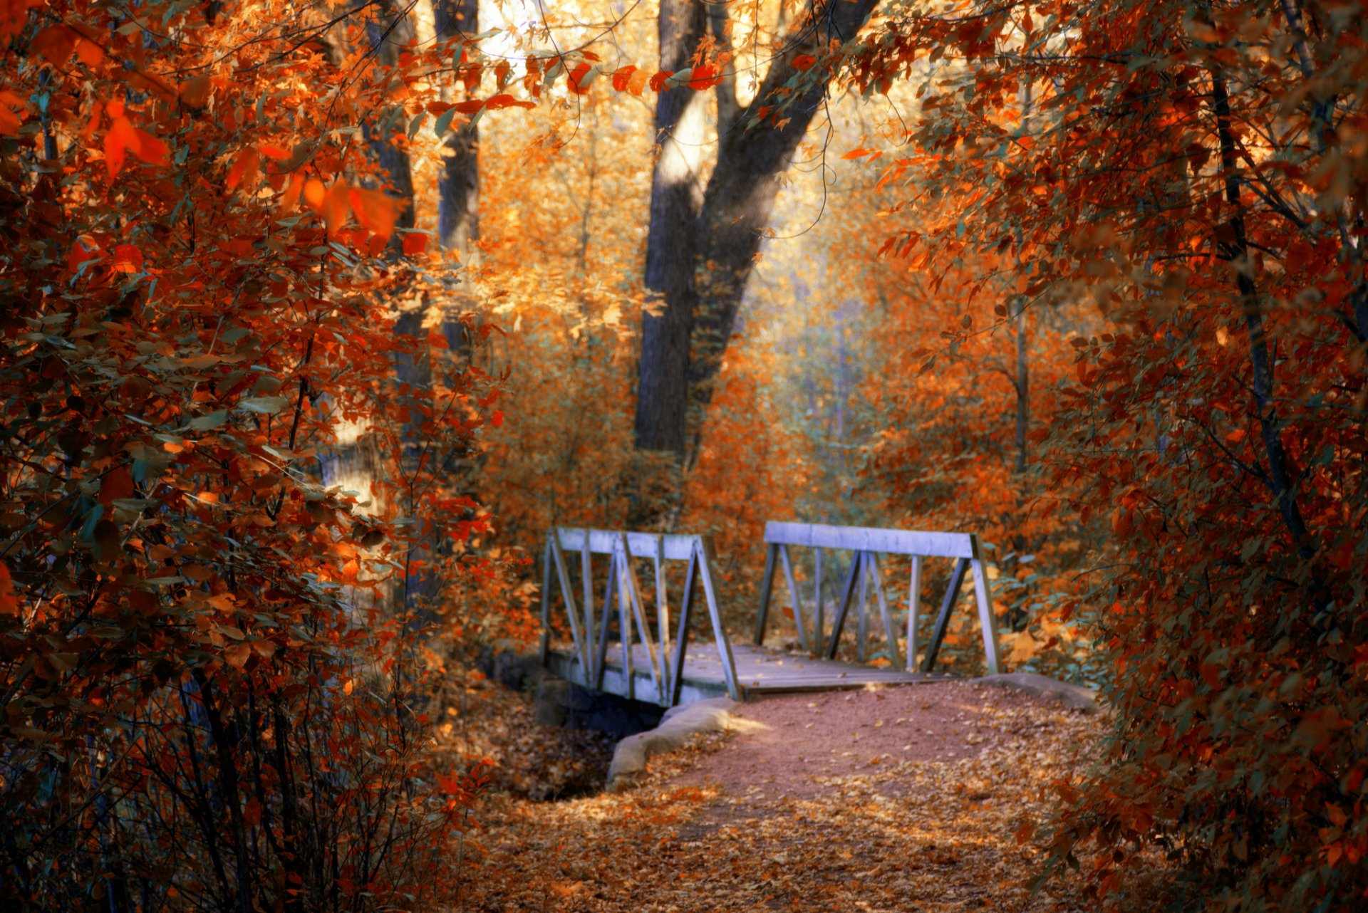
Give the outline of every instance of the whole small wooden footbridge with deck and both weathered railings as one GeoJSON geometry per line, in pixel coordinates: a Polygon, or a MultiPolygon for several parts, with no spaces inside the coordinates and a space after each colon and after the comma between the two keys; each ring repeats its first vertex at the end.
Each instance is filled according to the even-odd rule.
{"type": "Polygon", "coordinates": [[[772,522],[766,525],[765,543],[765,577],[754,642],[733,645],[722,625],[718,581],[713,574],[715,558],[706,536],[551,529],[542,562],[543,664],[583,687],[662,707],[720,694],[746,700],[782,692],[899,685],[940,678],[933,674],[936,656],[956,596],[966,574],[971,573],[985,660],[990,672],[999,671],[992,590],[981,545],[973,533],[772,522]],[[793,548],[814,549],[810,622],[804,622],[806,600],[795,573],[793,548]],[[829,629],[822,589],[825,549],[851,554],[844,582],[832,604],[829,629]],[[579,552],[577,560],[568,560],[566,552],[579,552]],[[906,662],[900,655],[899,629],[893,623],[884,586],[882,555],[911,559],[906,662]],[[929,558],[949,558],[955,564],[925,656],[918,666],[922,575],[929,558]],[[672,623],[668,577],[669,569],[680,563],[684,563],[684,584],[677,600],[679,618],[672,623]],[[637,567],[650,567],[654,584],[651,590],[643,592],[637,567]],[[595,601],[595,570],[603,573],[601,601],[595,601]],[[787,584],[798,641],[806,655],[763,646],[774,577],[780,570],[787,584]],[[579,586],[575,585],[576,575],[579,586]],[[869,611],[870,595],[874,597],[873,605],[878,608],[877,619],[869,611]],[[694,605],[700,601],[699,596],[707,610],[711,638],[691,645],[694,605]],[[839,662],[836,655],[852,605],[856,662],[839,662]],[[881,622],[882,627],[882,656],[888,660],[882,667],[865,664],[871,622],[881,622]]]}

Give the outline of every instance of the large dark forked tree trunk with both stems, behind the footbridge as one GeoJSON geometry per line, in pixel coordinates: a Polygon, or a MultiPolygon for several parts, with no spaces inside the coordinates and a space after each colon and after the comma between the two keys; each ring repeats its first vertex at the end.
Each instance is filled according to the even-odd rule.
{"type": "MultiPolygon", "coordinates": [[[[694,7],[679,0],[661,7],[661,67],[668,70],[683,68],[677,63],[672,66],[676,57],[668,60],[665,56],[666,48],[673,46],[666,44],[666,29],[676,27],[673,16],[666,18],[666,10],[680,5],[694,7]]],[[[762,105],[776,104],[776,90],[795,75],[791,66],[793,57],[819,57],[832,41],[854,38],[876,5],[877,0],[814,0],[810,15],[793,22],[784,42],[782,59],[770,67],[739,123],[748,123],[762,105]]],[[[698,10],[702,16],[702,4],[698,10]]],[[[702,21],[694,26],[691,15],[687,22],[702,37],[702,21]]],[[[683,40],[687,33],[681,29],[669,34],[683,40]]],[[[689,53],[692,48],[683,57],[687,60],[689,53]]],[[[731,96],[731,83],[724,83],[721,89],[718,108],[725,116],[735,107],[735,96],[731,96]],[[728,104],[728,98],[733,104],[728,104]]],[[[657,103],[657,126],[673,126],[687,112],[691,100],[674,100],[674,94],[696,97],[699,93],[662,93],[657,103]],[[674,105],[684,105],[685,109],[676,112],[674,105]],[[672,112],[674,120],[668,119],[672,112]]],[[[659,317],[647,316],[643,325],[636,406],[639,447],[683,454],[689,425],[702,426],[703,410],[711,400],[711,383],[721,366],[746,280],[778,191],[778,176],[825,97],[825,81],[813,79],[784,111],[784,126],[757,124],[750,130],[721,126],[717,165],[707,182],[702,209],[694,217],[692,231],[685,221],[694,209],[681,205],[683,194],[668,195],[674,194],[679,186],[662,182],[662,165],[657,164],[657,180],[651,187],[647,287],[665,294],[665,310],[659,317]],[[657,212],[661,213],[659,221],[657,212]],[[663,232],[659,238],[658,231],[663,232]],[[654,282],[659,284],[653,284],[653,250],[655,257],[676,261],[668,267],[670,272],[654,273],[654,282]],[[699,267],[702,272],[695,286],[694,273],[699,267]],[[677,275],[676,269],[687,275],[677,275]],[[691,403],[696,406],[692,417],[691,403]]],[[[665,160],[663,150],[661,159],[665,160]]]]}

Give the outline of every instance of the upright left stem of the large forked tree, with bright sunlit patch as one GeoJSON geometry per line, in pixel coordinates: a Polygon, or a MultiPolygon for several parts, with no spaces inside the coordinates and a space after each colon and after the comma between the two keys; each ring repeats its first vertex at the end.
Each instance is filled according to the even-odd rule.
{"type": "MultiPolygon", "coordinates": [[[[703,0],[661,0],[661,70],[680,71],[703,40],[703,0]]],[[[694,265],[706,141],[702,92],[674,89],[655,103],[661,145],[651,176],[651,223],[646,239],[646,288],[655,314],[642,318],[637,370],[636,446],[684,454],[688,418],[689,332],[694,325],[694,265]]]]}

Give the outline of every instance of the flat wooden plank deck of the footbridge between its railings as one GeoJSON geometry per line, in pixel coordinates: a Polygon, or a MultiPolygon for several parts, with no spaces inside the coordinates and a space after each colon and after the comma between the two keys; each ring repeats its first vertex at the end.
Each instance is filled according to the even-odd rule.
{"type": "MultiPolygon", "coordinates": [[[[847,687],[865,687],[866,685],[911,685],[948,678],[947,675],[903,672],[895,668],[877,668],[829,659],[813,659],[810,656],[782,653],[750,644],[733,644],[732,657],[736,662],[736,681],[740,686],[741,697],[746,700],[763,697],[765,694],[833,692],[847,687]]],[[[594,689],[594,682],[587,679],[583,666],[569,649],[553,649],[547,656],[547,666],[561,678],[594,689]]],[[[722,662],[715,644],[689,644],[688,655],[684,657],[683,679],[683,686],[680,687],[681,704],[726,694],[722,662]]],[[[651,679],[651,663],[646,655],[646,648],[640,644],[635,644],[632,648],[631,682],[627,681],[627,675],[622,672],[621,646],[613,645],[609,648],[606,662],[603,663],[603,687],[599,690],[639,701],[668,704],[668,701],[661,698],[659,689],[651,679]]]]}

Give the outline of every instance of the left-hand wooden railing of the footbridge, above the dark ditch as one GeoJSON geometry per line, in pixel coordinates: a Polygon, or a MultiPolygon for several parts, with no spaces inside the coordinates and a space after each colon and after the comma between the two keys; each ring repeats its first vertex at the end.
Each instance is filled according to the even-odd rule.
{"type": "Polygon", "coordinates": [[[651,700],[665,707],[679,703],[688,653],[689,621],[694,597],[702,590],[713,623],[713,637],[726,690],[740,700],[736,682],[736,663],[732,646],[722,629],[717,584],[713,577],[713,547],[706,536],[633,533],[607,529],[573,529],[557,526],[547,530],[542,560],[542,663],[547,662],[551,644],[553,582],[558,584],[561,601],[569,621],[572,651],[581,685],[603,689],[607,660],[609,627],[616,597],[618,644],[621,645],[622,674],[627,697],[651,700]],[[580,552],[580,600],[576,600],[570,578],[570,564],[565,552],[580,552]],[[603,601],[595,611],[594,555],[609,555],[603,601]],[[648,559],[654,573],[655,631],[647,621],[642,603],[642,585],[633,559],[648,559]],[[670,641],[670,603],[666,586],[666,567],[670,562],[685,562],[684,592],[680,596],[679,626],[670,641]],[[554,581],[553,581],[554,578],[554,581]],[[633,670],[633,644],[643,645],[651,677],[651,694],[637,694],[633,670]],[[673,655],[672,655],[673,646],[673,655]]]}

